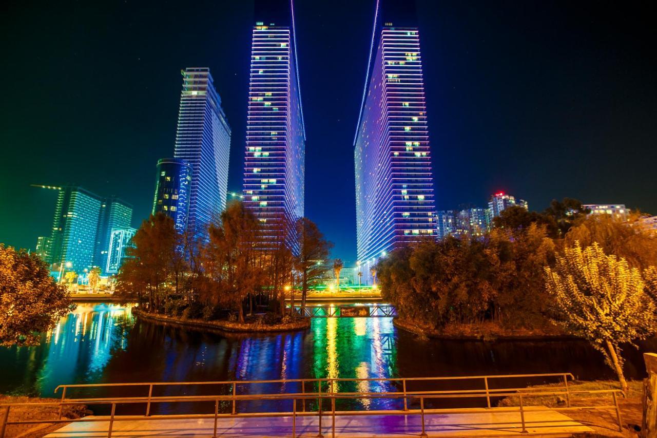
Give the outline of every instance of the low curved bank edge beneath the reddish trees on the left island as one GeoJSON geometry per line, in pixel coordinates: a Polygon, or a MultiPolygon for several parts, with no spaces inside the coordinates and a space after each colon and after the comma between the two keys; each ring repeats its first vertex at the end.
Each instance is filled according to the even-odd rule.
{"type": "Polygon", "coordinates": [[[177,316],[168,316],[163,314],[148,313],[135,307],[132,313],[149,322],[156,322],[160,324],[170,324],[173,326],[187,327],[187,328],[200,328],[215,331],[229,331],[233,333],[273,333],[279,331],[296,331],[305,330],[310,328],[310,318],[296,318],[291,322],[281,324],[264,324],[263,322],[243,323],[232,322],[226,320],[219,321],[206,321],[206,320],[192,320],[183,319],[177,316]]]}

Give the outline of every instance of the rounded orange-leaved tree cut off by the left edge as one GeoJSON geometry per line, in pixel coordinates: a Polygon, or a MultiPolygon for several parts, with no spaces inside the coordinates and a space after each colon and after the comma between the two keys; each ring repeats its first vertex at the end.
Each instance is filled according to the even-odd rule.
{"type": "Polygon", "coordinates": [[[0,345],[38,345],[72,307],[39,256],[0,244],[0,345]]]}

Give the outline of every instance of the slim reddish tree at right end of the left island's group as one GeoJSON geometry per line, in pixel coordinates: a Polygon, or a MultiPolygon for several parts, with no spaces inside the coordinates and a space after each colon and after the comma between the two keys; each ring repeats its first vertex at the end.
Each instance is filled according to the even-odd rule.
{"type": "Polygon", "coordinates": [[[324,278],[325,264],[333,244],[308,218],[300,218],[294,224],[294,240],[299,248],[299,253],[295,256],[295,265],[301,277],[301,305],[305,306],[308,288],[324,278]]]}

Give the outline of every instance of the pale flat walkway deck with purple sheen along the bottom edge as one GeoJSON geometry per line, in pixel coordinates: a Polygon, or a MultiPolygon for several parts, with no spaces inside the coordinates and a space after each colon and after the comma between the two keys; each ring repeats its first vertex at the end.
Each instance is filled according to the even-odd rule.
{"type": "MultiPolygon", "coordinates": [[[[590,427],[556,411],[541,411],[528,407],[526,427],[532,435],[569,436],[593,432],[590,427]]],[[[427,411],[432,412],[432,411],[427,411]]],[[[330,416],[323,417],[322,433],[331,437],[330,416]]],[[[107,421],[74,422],[46,435],[48,438],[106,437],[107,421]]],[[[483,409],[476,413],[426,414],[426,433],[430,437],[513,436],[521,433],[519,412],[495,412],[483,409]]],[[[115,421],[112,437],[212,437],[213,418],[200,420],[136,420],[115,421]]],[[[336,437],[418,437],[421,431],[419,415],[336,415],[336,437]]],[[[316,437],[317,417],[297,417],[296,435],[316,437]]],[[[217,437],[290,437],[292,417],[219,418],[217,437]]]]}

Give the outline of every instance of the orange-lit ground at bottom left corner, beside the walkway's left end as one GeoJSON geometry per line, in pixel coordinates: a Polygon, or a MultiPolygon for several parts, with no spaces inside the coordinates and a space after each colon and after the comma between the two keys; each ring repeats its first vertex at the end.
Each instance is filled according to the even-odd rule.
{"type": "MultiPolygon", "coordinates": [[[[0,404],[3,403],[51,403],[59,402],[60,399],[42,399],[40,397],[21,397],[14,395],[0,395],[0,404]]],[[[2,411],[5,408],[1,408],[2,411]]],[[[84,404],[64,406],[62,418],[73,420],[92,412],[87,410],[84,404]]],[[[55,420],[58,418],[59,407],[55,405],[46,406],[12,406],[9,410],[9,421],[20,422],[28,420],[55,420]]],[[[2,420],[0,419],[0,422],[2,420]]],[[[66,423],[43,423],[43,424],[10,424],[5,430],[7,438],[37,438],[64,426],[66,423]]]]}

